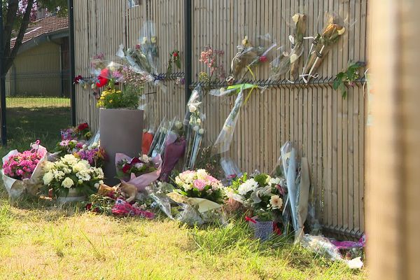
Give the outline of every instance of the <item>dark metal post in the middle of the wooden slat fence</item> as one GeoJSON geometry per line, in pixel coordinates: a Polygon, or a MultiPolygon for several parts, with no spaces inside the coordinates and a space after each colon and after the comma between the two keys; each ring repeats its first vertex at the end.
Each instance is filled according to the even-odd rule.
{"type": "Polygon", "coordinates": [[[185,72],[185,95],[186,95],[186,104],[188,99],[190,99],[190,85],[193,81],[193,45],[191,40],[191,0],[184,0],[184,72],[185,72]]]}

